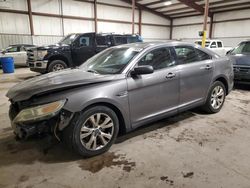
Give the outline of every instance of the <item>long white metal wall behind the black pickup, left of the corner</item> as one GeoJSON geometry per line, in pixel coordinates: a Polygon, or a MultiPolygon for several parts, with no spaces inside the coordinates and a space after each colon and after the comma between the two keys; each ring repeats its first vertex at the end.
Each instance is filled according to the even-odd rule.
{"type": "MultiPolygon", "coordinates": [[[[63,14],[67,16],[78,16],[94,18],[94,5],[88,2],[63,0],[31,0],[32,12],[63,14]]],[[[97,17],[98,32],[131,33],[132,20],[131,6],[118,0],[98,0],[100,3],[109,3],[125,7],[113,7],[98,4],[97,17]],[[127,7],[127,8],[126,8],[127,7]],[[126,15],[126,16],[124,16],[126,15]],[[107,22],[106,20],[111,20],[107,22]],[[124,23],[118,23],[123,21],[124,23]],[[128,22],[128,23],[126,23],[128,22]]],[[[1,3],[2,5],[3,3],[1,3]]],[[[8,0],[7,9],[27,11],[27,0],[8,0]]],[[[135,12],[135,32],[139,32],[139,11],[135,12]]],[[[47,45],[56,43],[63,35],[77,32],[93,32],[94,21],[80,19],[62,19],[58,17],[47,17],[33,15],[35,36],[30,36],[29,17],[27,14],[0,12],[0,49],[10,44],[29,43],[36,45],[47,45]]],[[[142,36],[144,40],[169,39],[169,20],[154,14],[142,11],[142,36]],[[155,20],[157,20],[158,26],[155,20]],[[160,26],[162,25],[162,26],[160,26]]]]}

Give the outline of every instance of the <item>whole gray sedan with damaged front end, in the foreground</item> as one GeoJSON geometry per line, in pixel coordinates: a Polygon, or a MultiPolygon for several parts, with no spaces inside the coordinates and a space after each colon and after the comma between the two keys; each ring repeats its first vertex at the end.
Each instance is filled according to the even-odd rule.
{"type": "Polygon", "coordinates": [[[107,151],[128,132],[202,106],[219,112],[233,87],[231,61],[189,43],[140,43],[107,49],[75,69],[9,90],[15,134],[52,133],[83,156],[107,151]]]}

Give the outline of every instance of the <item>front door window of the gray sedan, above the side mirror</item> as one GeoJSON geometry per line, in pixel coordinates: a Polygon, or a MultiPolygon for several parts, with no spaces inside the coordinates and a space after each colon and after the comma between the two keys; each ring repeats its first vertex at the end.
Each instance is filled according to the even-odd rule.
{"type": "Polygon", "coordinates": [[[170,48],[159,48],[146,54],[139,62],[138,66],[150,65],[154,70],[164,69],[174,65],[170,48]]]}

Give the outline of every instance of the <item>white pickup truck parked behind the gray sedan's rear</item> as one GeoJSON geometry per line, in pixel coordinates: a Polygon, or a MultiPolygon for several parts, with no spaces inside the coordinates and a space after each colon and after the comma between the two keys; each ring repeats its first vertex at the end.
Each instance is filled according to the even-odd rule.
{"type": "MultiPolygon", "coordinates": [[[[197,40],[195,43],[201,45],[202,40],[197,40]]],[[[226,53],[232,49],[232,47],[224,47],[224,44],[221,40],[206,40],[205,47],[219,54],[220,56],[225,56],[226,53]]]]}

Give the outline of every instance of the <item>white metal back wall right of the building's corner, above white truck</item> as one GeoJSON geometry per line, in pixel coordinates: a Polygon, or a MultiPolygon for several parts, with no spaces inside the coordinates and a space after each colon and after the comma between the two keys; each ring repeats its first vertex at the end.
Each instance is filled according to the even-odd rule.
{"type": "MultiPolygon", "coordinates": [[[[214,15],[214,22],[215,23],[213,24],[212,36],[214,39],[222,40],[225,46],[233,47],[243,40],[250,39],[249,9],[217,13],[214,15]],[[246,20],[221,22],[229,19],[241,19],[241,18],[246,18],[246,20]]],[[[173,38],[182,39],[189,42],[201,39],[198,36],[198,32],[202,31],[203,24],[195,24],[195,23],[203,23],[203,16],[193,16],[193,17],[174,19],[173,38]],[[180,26],[183,24],[194,24],[194,25],[180,26]]]]}

